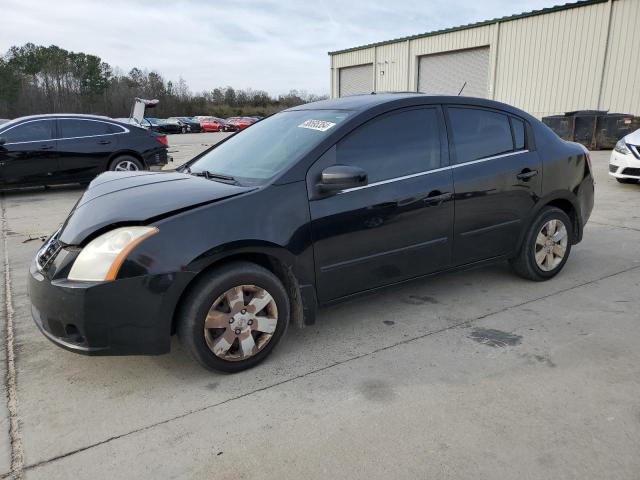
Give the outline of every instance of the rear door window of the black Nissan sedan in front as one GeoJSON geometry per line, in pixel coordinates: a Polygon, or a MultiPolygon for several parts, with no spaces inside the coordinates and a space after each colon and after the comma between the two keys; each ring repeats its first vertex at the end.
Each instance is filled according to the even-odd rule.
{"type": "Polygon", "coordinates": [[[498,112],[450,107],[455,163],[470,162],[513,151],[509,118],[498,112]]]}

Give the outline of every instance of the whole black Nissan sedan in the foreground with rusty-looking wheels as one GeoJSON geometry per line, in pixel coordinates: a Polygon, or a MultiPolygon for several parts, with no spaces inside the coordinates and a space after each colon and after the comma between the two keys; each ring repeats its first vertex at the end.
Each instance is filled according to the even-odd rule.
{"type": "Polygon", "coordinates": [[[468,97],[295,107],[180,170],[92,183],[31,265],[45,336],[159,354],[177,332],[202,365],[235,372],[318,306],[383,286],[504,260],[548,280],[594,199],[581,145],[468,97]]]}

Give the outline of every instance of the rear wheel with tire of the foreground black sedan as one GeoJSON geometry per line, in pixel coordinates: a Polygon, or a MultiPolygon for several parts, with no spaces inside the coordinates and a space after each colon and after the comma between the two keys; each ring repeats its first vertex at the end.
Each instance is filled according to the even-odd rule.
{"type": "Polygon", "coordinates": [[[513,270],[523,278],[537,282],[549,280],[555,277],[567,262],[571,253],[572,238],[573,224],[569,216],[559,208],[545,207],[531,223],[520,252],[515,258],[509,260],[509,263],[513,270]],[[556,223],[549,224],[553,220],[556,223]],[[561,226],[564,227],[564,236],[562,236],[562,228],[557,222],[561,222],[561,226]],[[547,235],[549,233],[548,227],[553,230],[552,225],[556,226],[556,233],[547,235]],[[539,235],[542,236],[539,237],[539,235]],[[540,243],[543,239],[544,244],[540,243]],[[558,241],[556,242],[554,239],[558,239],[558,241]],[[544,252],[548,253],[545,255],[544,252]],[[559,256],[560,252],[564,252],[562,257],[559,256]],[[541,259],[540,263],[536,256],[538,256],[538,260],[541,259]]]}

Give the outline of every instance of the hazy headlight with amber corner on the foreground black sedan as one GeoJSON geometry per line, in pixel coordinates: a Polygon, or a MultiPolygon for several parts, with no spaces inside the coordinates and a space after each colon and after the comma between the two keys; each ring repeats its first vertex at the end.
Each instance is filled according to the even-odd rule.
{"type": "Polygon", "coordinates": [[[73,262],[69,280],[103,282],[115,280],[127,255],[145,238],[155,235],[156,227],[122,227],[93,239],[73,262]]]}

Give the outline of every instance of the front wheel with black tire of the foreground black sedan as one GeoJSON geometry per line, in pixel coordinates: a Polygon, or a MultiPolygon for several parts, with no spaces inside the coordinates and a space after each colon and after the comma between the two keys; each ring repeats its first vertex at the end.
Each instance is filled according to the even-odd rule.
{"type": "Polygon", "coordinates": [[[178,337],[189,355],[205,368],[240,372],[271,353],[287,329],[289,312],[287,291],[273,273],[254,263],[233,262],[206,273],[189,290],[177,312],[178,337]],[[228,294],[238,288],[243,289],[242,303],[232,304],[228,294]],[[253,299],[264,301],[266,297],[252,299],[253,288],[266,291],[271,300],[255,314],[248,308],[253,299]],[[222,328],[205,329],[205,321],[222,328]],[[243,342],[248,344],[246,352],[243,342]],[[214,353],[215,349],[219,351],[214,353]]]}

